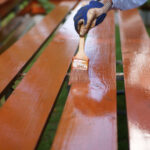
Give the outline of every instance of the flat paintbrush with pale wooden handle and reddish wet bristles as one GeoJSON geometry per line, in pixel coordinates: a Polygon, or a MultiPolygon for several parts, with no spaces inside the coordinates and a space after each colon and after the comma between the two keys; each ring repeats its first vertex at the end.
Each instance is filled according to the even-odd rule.
{"type": "Polygon", "coordinates": [[[78,52],[72,59],[69,85],[73,83],[89,82],[89,58],[85,54],[84,47],[85,37],[80,37],[78,52]]]}

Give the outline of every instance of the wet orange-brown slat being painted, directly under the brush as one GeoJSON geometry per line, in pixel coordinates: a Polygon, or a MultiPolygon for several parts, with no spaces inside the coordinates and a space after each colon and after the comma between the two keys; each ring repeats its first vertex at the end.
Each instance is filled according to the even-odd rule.
{"type": "Polygon", "coordinates": [[[114,15],[86,41],[90,83],[71,87],[52,150],[116,150],[116,69],[114,15]]]}

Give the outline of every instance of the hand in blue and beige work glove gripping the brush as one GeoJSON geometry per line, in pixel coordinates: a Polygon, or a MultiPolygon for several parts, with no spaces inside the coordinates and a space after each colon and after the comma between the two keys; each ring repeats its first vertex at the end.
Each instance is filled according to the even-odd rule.
{"type": "Polygon", "coordinates": [[[81,7],[74,17],[75,29],[78,34],[85,36],[91,28],[102,23],[111,6],[111,0],[101,2],[92,0],[81,7]]]}

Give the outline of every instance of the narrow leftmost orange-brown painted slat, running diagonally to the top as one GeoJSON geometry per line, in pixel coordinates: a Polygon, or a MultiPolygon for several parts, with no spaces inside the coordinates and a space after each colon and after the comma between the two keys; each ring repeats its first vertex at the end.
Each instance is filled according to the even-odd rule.
{"type": "Polygon", "coordinates": [[[0,93],[63,20],[75,2],[62,2],[39,24],[0,55],[0,93]]]}

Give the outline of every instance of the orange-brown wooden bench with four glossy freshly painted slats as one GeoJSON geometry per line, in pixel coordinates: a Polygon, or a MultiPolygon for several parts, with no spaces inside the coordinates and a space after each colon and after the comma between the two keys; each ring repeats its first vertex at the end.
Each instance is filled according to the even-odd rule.
{"type": "MultiPolygon", "coordinates": [[[[81,4],[75,7],[76,4],[76,1],[58,3],[39,24],[0,55],[0,97],[3,97],[56,31],[0,108],[0,149],[35,149],[78,48],[79,37],[72,18],[81,4]]],[[[143,150],[149,148],[150,140],[149,37],[137,10],[119,14],[130,149],[143,150]]],[[[71,86],[53,150],[116,150],[118,147],[113,11],[88,34],[86,53],[90,58],[90,83],[71,86]]]]}

